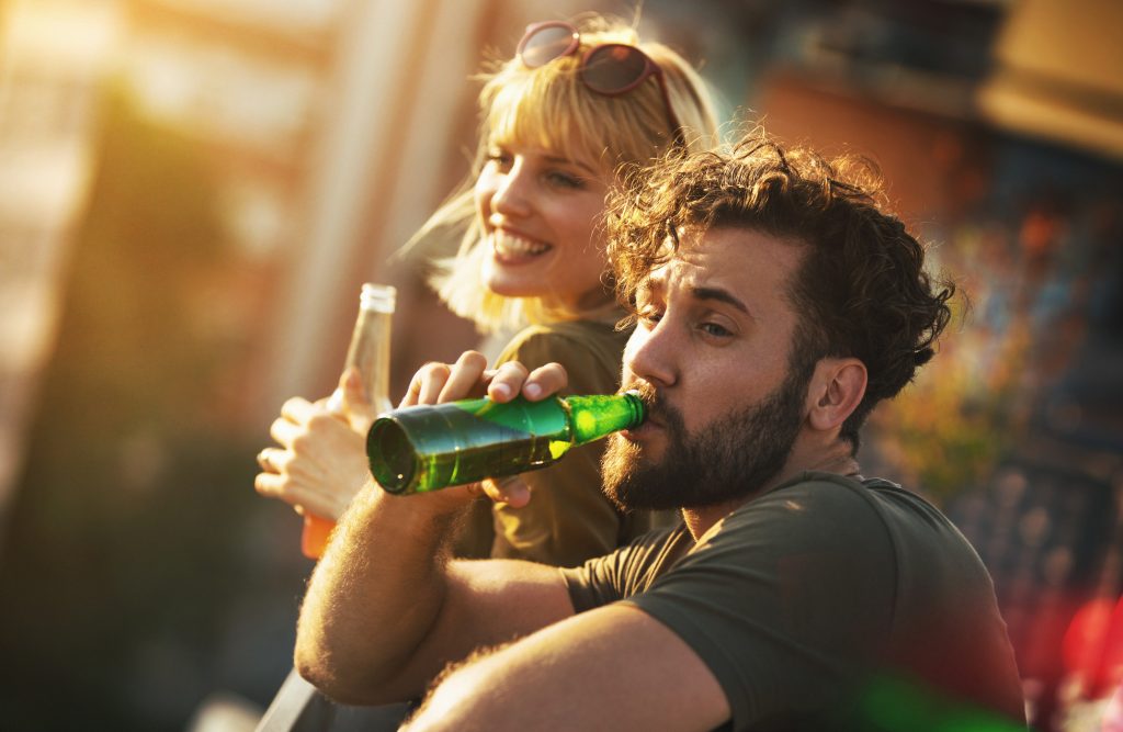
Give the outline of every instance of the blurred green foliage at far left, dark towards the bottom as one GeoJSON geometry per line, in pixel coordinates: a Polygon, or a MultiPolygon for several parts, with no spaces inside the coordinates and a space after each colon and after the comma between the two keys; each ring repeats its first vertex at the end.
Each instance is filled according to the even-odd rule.
{"type": "Polygon", "coordinates": [[[121,93],[102,115],[0,554],[9,729],[182,729],[241,581],[231,558],[254,503],[254,449],[207,416],[231,356],[201,283],[231,255],[206,156],[121,93]],[[161,698],[159,675],[181,694],[161,698]],[[152,716],[126,698],[145,693],[152,716]]]}

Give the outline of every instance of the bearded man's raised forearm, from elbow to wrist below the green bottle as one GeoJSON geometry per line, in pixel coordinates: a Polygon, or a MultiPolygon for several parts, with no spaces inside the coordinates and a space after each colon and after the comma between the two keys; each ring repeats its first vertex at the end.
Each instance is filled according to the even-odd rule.
{"type": "Polygon", "coordinates": [[[422,690],[424,678],[403,671],[417,666],[414,651],[445,602],[445,544],[459,513],[449,501],[373,486],[359,494],[309,582],[296,633],[302,676],[341,702],[422,690]]]}

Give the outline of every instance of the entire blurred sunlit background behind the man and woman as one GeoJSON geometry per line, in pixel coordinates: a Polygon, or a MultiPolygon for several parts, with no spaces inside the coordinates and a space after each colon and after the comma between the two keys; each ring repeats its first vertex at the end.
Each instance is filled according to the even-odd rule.
{"type": "MultiPolygon", "coordinates": [[[[477,342],[391,259],[467,173],[469,81],[636,2],[0,0],[0,729],[253,729],[311,562],[253,489],[364,281],[392,390],[477,342]]],[[[1038,730],[1123,669],[1123,3],[647,0],[728,120],[879,164],[969,292],[867,475],[990,568],[1038,730]]]]}

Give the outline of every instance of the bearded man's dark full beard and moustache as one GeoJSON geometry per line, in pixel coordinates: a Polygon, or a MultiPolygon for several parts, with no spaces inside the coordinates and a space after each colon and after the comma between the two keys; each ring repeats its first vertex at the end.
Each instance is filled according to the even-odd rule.
{"type": "Polygon", "coordinates": [[[663,460],[646,462],[638,444],[612,435],[601,461],[605,495],[627,510],[704,508],[757,492],[779,473],[803,425],[814,362],[802,367],[758,404],[693,435],[677,409],[645,398],[667,435],[663,460]]]}

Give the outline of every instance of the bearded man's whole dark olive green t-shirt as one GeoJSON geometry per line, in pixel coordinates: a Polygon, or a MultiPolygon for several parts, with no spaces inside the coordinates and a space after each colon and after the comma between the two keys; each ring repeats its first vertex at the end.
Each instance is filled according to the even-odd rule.
{"type": "Polygon", "coordinates": [[[665,530],[562,572],[577,612],[622,600],[681,636],[724,690],[728,729],[1023,729],[989,575],[888,481],[806,472],[696,544],[665,530]]]}

